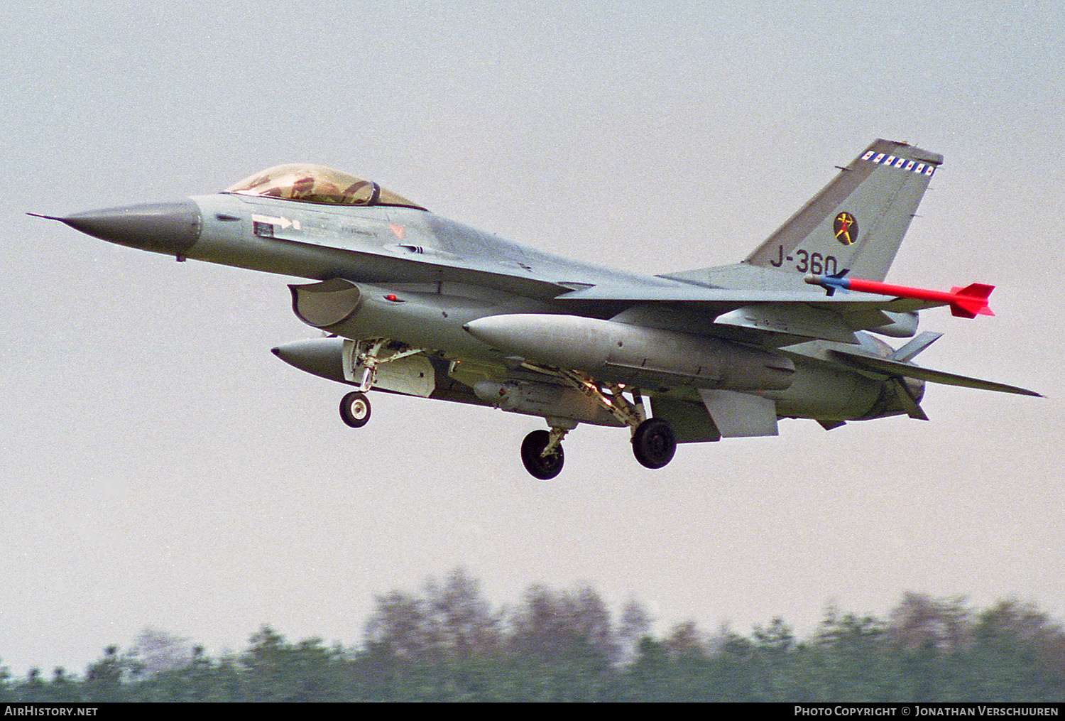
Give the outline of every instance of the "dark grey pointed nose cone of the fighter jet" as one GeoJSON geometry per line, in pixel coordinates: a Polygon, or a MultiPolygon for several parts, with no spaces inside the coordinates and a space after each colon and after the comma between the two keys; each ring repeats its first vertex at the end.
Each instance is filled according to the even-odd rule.
{"type": "Polygon", "coordinates": [[[103,241],[183,256],[199,239],[199,206],[192,200],[104,208],[55,218],[103,241]]]}

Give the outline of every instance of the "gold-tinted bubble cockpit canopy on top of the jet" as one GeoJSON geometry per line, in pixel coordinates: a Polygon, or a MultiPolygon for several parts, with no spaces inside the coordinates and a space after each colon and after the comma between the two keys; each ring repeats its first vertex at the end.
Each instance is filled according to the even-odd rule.
{"type": "Polygon", "coordinates": [[[372,180],[310,163],[275,165],[230,185],[225,192],[322,206],[402,206],[425,210],[372,180]]]}

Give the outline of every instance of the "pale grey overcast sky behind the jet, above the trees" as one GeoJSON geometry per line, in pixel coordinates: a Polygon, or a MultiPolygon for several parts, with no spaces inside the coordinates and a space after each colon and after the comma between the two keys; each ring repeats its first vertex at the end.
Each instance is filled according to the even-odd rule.
{"type": "Polygon", "coordinates": [[[1065,617],[1059,2],[0,0],[0,656],[78,673],[145,626],[241,649],[361,639],[375,593],[466,567],[635,595],[742,633],[905,590],[1065,617]],[[374,178],[515,242],[629,271],[731,263],[875,137],[946,155],[888,280],[997,285],[928,311],[928,423],[682,446],[343,389],[279,276],[23,215],[210,193],[281,162],[374,178]]]}

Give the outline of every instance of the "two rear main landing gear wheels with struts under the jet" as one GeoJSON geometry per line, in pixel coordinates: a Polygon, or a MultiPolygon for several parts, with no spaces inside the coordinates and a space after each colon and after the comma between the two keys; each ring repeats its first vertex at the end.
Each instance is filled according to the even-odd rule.
{"type": "MultiPolygon", "coordinates": [[[[540,368],[535,368],[540,370],[540,368]]],[[[640,465],[660,469],[673,460],[676,438],[663,419],[648,419],[643,414],[643,400],[638,390],[633,390],[633,400],[622,395],[624,387],[616,383],[600,384],[575,371],[560,371],[557,375],[568,380],[583,393],[597,400],[616,419],[633,431],[633,455],[640,465]]],[[[576,423],[561,419],[547,419],[551,430],[534,430],[522,442],[522,463],[534,477],[542,480],[554,478],[562,471],[566,456],[562,438],[576,423]]]]}

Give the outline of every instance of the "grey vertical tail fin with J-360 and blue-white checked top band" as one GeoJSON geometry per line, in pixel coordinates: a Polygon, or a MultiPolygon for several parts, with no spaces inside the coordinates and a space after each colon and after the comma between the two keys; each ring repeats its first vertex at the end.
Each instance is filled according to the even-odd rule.
{"type": "Polygon", "coordinates": [[[943,155],[879,140],[744,260],[883,280],[943,155]]]}

